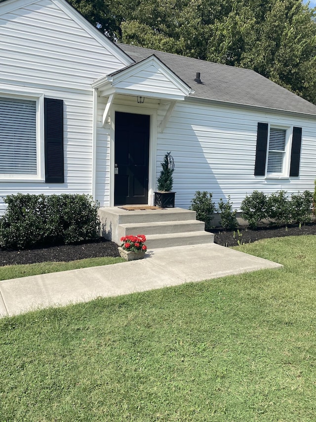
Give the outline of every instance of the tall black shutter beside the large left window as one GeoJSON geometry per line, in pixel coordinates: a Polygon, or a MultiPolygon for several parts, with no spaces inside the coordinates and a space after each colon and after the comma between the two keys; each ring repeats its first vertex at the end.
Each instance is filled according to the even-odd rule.
{"type": "Polygon", "coordinates": [[[64,183],[64,103],[44,98],[45,182],[64,183]]]}

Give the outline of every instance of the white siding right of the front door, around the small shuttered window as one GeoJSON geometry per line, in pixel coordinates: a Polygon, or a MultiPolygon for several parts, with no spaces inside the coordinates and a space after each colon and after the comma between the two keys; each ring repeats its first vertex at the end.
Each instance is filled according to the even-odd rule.
{"type": "Polygon", "coordinates": [[[314,190],[316,124],[309,118],[179,102],[162,134],[158,134],[157,177],[166,151],[175,161],[176,206],[188,208],[196,190],[231,199],[235,208],[253,190],[288,193],[314,190]],[[300,176],[268,179],[254,176],[257,123],[302,127],[300,176]]]}

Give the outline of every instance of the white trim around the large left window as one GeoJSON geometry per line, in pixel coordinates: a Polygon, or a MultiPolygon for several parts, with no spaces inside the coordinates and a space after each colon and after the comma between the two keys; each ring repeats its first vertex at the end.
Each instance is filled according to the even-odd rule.
{"type": "Polygon", "coordinates": [[[37,151],[37,174],[4,174],[0,173],[0,182],[45,182],[44,170],[44,94],[19,91],[1,91],[3,98],[14,98],[36,101],[36,151],[37,151]]]}

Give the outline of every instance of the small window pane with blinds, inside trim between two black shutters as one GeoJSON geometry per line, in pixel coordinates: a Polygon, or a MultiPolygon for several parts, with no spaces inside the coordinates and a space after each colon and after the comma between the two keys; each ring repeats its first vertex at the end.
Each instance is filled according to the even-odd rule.
{"type": "Polygon", "coordinates": [[[285,142],[285,129],[270,129],[267,174],[283,172],[285,142]]]}

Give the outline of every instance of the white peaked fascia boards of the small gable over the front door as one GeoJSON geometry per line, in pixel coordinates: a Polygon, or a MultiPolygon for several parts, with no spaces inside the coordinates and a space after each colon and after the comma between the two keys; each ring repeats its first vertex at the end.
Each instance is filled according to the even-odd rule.
{"type": "Polygon", "coordinates": [[[189,85],[178,78],[178,76],[165,66],[155,55],[151,55],[144,60],[127,67],[126,69],[122,69],[121,71],[112,74],[113,86],[132,75],[136,75],[138,72],[145,70],[151,65],[155,66],[157,70],[169,79],[181,92],[183,92],[185,96],[194,92],[189,85]]]}

